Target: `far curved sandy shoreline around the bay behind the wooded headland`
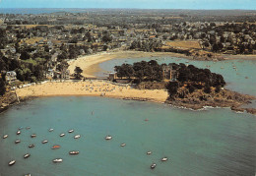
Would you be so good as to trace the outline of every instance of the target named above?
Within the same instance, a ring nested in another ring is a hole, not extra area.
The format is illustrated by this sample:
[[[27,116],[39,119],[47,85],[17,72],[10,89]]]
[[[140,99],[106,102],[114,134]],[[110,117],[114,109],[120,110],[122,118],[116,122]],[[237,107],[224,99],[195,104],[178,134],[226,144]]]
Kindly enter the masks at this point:
[[[78,57],[77,59],[72,59],[68,61],[70,74],[74,74],[74,69],[76,66],[81,67],[83,70],[82,75],[86,78],[96,78],[96,73],[102,71],[99,68],[99,64],[105,61],[112,59],[133,59],[133,58],[142,58],[142,57],[177,57],[188,60],[206,60],[214,61],[212,58],[195,58],[194,56],[186,56],[185,54],[174,53],[174,52],[144,52],[144,51],[104,51],[92,55],[86,55]],[[224,55],[223,60],[256,60],[256,55]],[[218,60],[216,60],[218,62]]]

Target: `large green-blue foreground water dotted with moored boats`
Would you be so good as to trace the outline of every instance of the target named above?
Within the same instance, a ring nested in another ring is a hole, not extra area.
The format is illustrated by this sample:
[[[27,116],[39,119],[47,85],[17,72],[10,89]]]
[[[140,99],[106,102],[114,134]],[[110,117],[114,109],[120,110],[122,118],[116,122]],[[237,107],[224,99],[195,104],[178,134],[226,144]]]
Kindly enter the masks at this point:
[[[16,135],[27,126],[31,129]],[[103,97],[37,98],[0,114],[0,134],[9,135],[0,139],[0,174],[253,176],[255,127],[255,116],[224,108],[195,112]],[[68,134],[70,129],[75,132]],[[66,136],[60,138],[61,133]],[[77,134],[81,138],[75,140]],[[113,139],[105,141],[106,135]],[[17,139],[21,144],[14,144]],[[49,142],[42,145],[43,140]],[[53,150],[53,145],[61,148]],[[80,154],[69,155],[70,150]],[[27,152],[32,156],[24,159]],[[163,156],[168,161],[161,162]],[[52,163],[58,157],[63,162]],[[11,159],[17,163],[8,166]],[[155,170],[150,169],[153,162]]]

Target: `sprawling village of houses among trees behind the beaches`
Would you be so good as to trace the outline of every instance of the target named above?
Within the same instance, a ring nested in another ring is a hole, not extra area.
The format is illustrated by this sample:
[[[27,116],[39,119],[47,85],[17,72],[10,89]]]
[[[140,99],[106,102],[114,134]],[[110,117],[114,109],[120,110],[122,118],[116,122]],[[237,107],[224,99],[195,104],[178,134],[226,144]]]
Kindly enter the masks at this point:
[[[75,79],[68,62],[103,51],[176,52],[207,60],[256,54],[254,16],[229,22],[230,17],[210,21],[193,13],[192,20],[174,13],[104,13],[0,14],[2,77],[28,84]]]

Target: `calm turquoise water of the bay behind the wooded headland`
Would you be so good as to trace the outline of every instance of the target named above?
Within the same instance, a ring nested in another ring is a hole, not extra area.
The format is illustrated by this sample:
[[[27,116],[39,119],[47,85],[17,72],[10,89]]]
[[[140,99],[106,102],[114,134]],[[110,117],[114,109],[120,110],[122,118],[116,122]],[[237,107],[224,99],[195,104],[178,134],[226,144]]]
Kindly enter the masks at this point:
[[[114,66],[122,63],[132,64],[142,60],[150,61],[156,59],[162,63],[184,63],[192,64],[199,68],[209,68],[212,72],[222,74],[226,82],[226,88],[256,96],[256,60],[227,60],[227,61],[192,61],[175,57],[148,57],[137,59],[113,59],[99,64],[103,70],[96,73],[96,76],[106,76],[108,72],[114,71]],[[186,63],[188,62],[188,63]],[[210,66],[210,67],[207,67]],[[236,70],[233,69],[236,67]],[[256,107],[256,106],[255,106]]]

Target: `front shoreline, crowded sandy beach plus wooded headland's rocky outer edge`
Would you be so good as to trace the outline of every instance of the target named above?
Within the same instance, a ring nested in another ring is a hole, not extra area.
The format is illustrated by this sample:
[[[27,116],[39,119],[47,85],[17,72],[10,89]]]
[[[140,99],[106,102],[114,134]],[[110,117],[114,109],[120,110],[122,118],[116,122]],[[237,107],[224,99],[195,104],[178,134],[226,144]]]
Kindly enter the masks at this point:
[[[206,107],[211,108],[229,108],[236,112],[247,112],[256,115],[253,108],[241,108],[235,106],[235,103],[213,104],[205,102],[205,104],[186,104],[186,103],[169,103],[167,100],[168,93],[165,89],[137,89],[130,85],[119,86],[107,81],[85,81],[85,82],[59,82],[46,83],[43,85],[35,85],[29,88],[17,89],[17,94],[21,101],[39,97],[54,96],[99,96],[107,98],[118,98],[123,100],[148,101],[170,105],[176,108],[183,108],[193,111],[204,110]],[[245,95],[247,96],[247,95]],[[249,95],[248,95],[249,96]],[[200,106],[200,108],[199,108]]]

